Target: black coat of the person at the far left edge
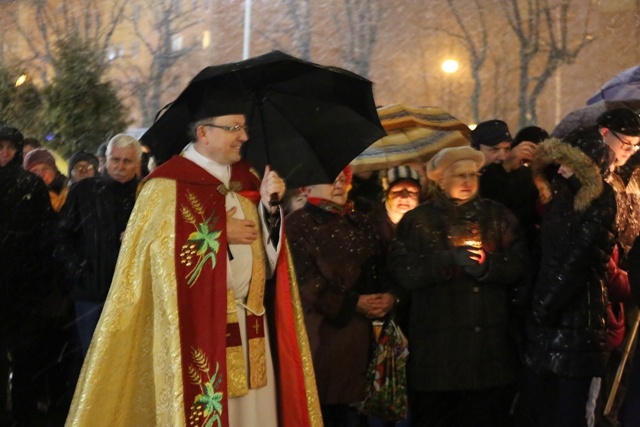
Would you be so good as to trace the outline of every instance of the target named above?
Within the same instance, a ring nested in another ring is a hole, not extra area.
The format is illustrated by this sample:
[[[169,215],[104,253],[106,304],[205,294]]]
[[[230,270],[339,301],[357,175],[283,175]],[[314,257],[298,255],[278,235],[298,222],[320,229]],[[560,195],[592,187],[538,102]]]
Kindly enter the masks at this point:
[[[49,292],[52,227],[42,179],[17,160],[0,167],[0,329],[20,324]]]

